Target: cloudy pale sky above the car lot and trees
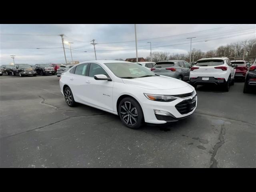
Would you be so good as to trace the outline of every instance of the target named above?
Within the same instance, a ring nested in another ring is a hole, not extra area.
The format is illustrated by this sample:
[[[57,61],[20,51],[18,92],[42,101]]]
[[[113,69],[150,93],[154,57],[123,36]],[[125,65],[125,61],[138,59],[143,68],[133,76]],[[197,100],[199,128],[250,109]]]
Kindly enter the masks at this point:
[[[138,57],[152,52],[170,54],[192,49],[208,51],[218,46],[256,38],[255,24],[137,24]],[[0,63],[65,63],[62,41],[73,42],[73,60],[94,60],[92,39],[97,43],[97,59],[135,58],[133,24],[1,24]],[[206,41],[207,40],[207,41]],[[38,49],[40,48],[40,49]],[[69,45],[65,45],[67,60],[71,60]],[[87,52],[84,52],[87,51]]]

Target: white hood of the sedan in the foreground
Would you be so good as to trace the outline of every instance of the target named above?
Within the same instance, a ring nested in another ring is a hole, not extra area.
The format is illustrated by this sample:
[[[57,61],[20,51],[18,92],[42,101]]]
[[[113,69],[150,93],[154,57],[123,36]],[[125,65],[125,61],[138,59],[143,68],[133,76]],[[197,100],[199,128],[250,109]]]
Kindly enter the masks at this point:
[[[125,84],[151,89],[151,90],[167,90],[178,89],[188,86],[188,83],[166,76],[152,76],[134,79],[122,79]]]

